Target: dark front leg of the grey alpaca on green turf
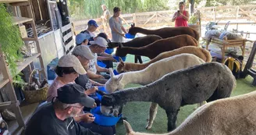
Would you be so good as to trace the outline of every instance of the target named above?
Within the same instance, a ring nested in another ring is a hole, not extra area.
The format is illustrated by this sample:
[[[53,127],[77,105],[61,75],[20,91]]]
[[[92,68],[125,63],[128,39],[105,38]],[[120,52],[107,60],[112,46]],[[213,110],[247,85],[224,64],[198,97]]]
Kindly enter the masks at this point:
[[[165,110],[166,115],[168,117],[168,132],[175,130],[176,129],[176,119],[177,119],[177,114],[179,112],[178,110]]]

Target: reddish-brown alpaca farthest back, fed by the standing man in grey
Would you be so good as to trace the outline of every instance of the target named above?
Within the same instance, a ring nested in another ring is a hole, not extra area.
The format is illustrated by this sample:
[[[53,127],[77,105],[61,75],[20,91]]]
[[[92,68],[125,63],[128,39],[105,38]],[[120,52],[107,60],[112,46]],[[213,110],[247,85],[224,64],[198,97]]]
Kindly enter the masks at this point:
[[[136,35],[137,33],[155,34],[162,38],[175,37],[181,34],[188,34],[194,37],[197,41],[199,40],[199,37],[200,37],[198,32],[190,27],[163,27],[157,30],[147,30],[147,29],[143,29],[143,28],[135,27],[134,25],[131,25],[128,33],[133,35]]]

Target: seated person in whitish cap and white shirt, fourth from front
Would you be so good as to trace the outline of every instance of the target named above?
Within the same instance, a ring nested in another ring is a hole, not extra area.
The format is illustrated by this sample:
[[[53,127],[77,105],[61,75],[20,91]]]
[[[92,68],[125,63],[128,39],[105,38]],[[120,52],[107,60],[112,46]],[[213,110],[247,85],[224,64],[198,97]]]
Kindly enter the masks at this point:
[[[90,60],[89,62],[89,68],[87,75],[90,79],[97,81],[98,83],[105,84],[107,82],[107,79],[110,78],[109,75],[105,74],[105,76],[101,76],[101,72],[109,73],[109,69],[102,68],[98,66],[97,59],[99,60],[108,60],[108,59],[101,59],[98,57],[99,54],[102,54],[105,52],[105,49],[107,48],[108,42],[105,40],[105,38],[97,37],[94,41],[90,41],[89,48],[91,49],[91,52],[94,54],[94,59]]]

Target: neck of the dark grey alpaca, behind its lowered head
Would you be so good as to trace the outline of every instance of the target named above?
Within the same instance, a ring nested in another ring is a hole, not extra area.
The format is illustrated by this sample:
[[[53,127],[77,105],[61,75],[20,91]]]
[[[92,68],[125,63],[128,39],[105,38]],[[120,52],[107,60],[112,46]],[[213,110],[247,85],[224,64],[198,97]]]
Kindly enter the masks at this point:
[[[152,101],[155,102],[156,87],[135,87],[109,94],[116,98],[116,105],[123,105],[128,101]]]

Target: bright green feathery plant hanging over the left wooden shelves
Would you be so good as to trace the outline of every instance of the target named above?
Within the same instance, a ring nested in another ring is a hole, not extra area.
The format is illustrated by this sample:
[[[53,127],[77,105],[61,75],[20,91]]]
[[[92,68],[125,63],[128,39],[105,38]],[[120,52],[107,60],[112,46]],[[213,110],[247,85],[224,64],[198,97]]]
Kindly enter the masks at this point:
[[[23,58],[23,55],[18,53],[18,50],[23,46],[20,30],[16,25],[12,25],[12,17],[6,12],[3,4],[0,4],[0,18],[1,50],[5,54],[6,62],[9,63],[11,74],[16,75],[16,60]],[[13,78],[13,80],[21,81],[20,75]]]

